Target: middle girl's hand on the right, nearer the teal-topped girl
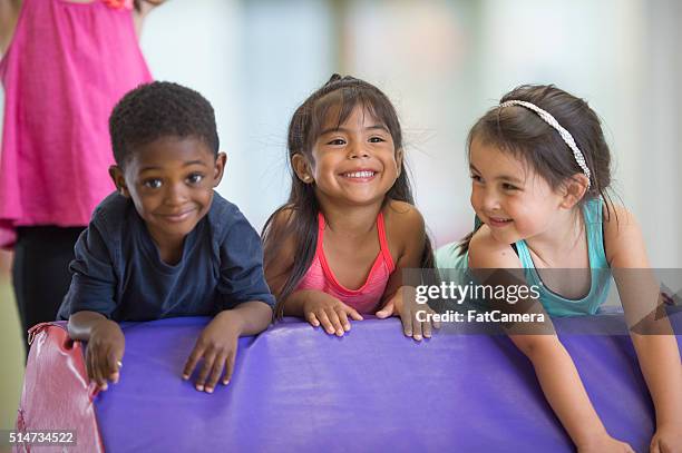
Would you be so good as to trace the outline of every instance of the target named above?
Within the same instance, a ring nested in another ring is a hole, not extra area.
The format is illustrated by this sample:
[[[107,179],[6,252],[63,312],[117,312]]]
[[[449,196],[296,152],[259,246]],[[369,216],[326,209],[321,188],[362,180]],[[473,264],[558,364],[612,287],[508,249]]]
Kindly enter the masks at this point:
[[[440,328],[440,323],[429,321],[427,315],[432,315],[433,311],[426,304],[418,304],[416,295],[413,287],[401,286],[383,308],[377,312],[377,317],[384,319],[400,316],[405,335],[419,342],[425,337],[430,338],[432,328]]]

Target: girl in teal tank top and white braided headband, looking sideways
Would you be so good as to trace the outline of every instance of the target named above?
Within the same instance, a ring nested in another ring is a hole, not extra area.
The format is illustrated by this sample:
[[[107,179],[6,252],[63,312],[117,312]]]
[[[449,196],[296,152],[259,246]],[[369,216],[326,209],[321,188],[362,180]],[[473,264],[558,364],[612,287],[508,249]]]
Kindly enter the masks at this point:
[[[642,303],[647,303],[646,297],[657,295],[653,278],[644,278],[641,292],[620,272],[640,269],[650,275],[649,262],[636,221],[606,195],[611,155],[600,119],[583,99],[553,86],[516,88],[472,127],[468,157],[471,205],[480,220],[458,246],[438,250],[437,264],[446,280],[452,275],[468,280],[471,269],[485,270],[478,275],[487,280],[477,284],[503,283],[510,288],[525,279],[526,285],[539,287],[537,299],[554,316],[596,313],[608,293],[611,277],[605,269],[614,270],[622,301],[639,301],[643,294]],[[577,269],[577,277],[545,285],[540,273],[549,277],[551,269]],[[504,294],[495,296],[503,311],[515,303]],[[636,306],[624,305],[627,317],[642,319]],[[655,305],[644,308],[651,307]],[[542,325],[552,327],[551,317],[545,319]],[[672,332],[666,318],[662,323]],[[606,432],[555,334],[507,332],[533,363],[547,401],[578,451],[632,451]],[[682,445],[682,364],[675,337],[631,332],[655,405],[651,449]]]

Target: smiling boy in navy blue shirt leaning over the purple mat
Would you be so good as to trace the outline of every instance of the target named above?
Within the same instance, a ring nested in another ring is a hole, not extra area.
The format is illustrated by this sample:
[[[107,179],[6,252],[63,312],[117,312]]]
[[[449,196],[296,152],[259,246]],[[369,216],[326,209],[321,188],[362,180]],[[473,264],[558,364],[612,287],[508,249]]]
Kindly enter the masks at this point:
[[[213,108],[194,90],[153,82],[118,102],[109,130],[117,191],[76,244],[59,317],[88,342],[88,375],[106,390],[125,349],[118,322],[215,315],[183,371],[189,378],[203,360],[196,390],[212,393],[225,367],[223,383],[231,378],[238,336],[265,329],[274,305],[259,235],[213,190],[226,159]]]

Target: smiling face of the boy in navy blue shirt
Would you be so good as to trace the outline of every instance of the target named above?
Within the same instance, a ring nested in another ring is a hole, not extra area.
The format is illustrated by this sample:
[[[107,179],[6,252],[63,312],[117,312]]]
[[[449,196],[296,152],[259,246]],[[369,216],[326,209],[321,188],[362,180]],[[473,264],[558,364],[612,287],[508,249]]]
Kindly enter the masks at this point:
[[[224,166],[225,155],[214,157],[202,140],[163,137],[136,147],[125,168],[109,173],[163,249],[182,244],[208,213]]]

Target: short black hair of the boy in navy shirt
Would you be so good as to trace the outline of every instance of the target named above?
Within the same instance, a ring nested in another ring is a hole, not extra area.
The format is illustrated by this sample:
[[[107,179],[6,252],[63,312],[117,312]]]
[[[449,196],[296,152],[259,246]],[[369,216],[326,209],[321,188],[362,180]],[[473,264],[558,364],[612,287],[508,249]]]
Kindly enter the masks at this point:
[[[193,137],[218,152],[215,114],[197,91],[168,81],[140,85],[118,101],[109,117],[114,158],[123,167],[136,146],[162,137]]]

